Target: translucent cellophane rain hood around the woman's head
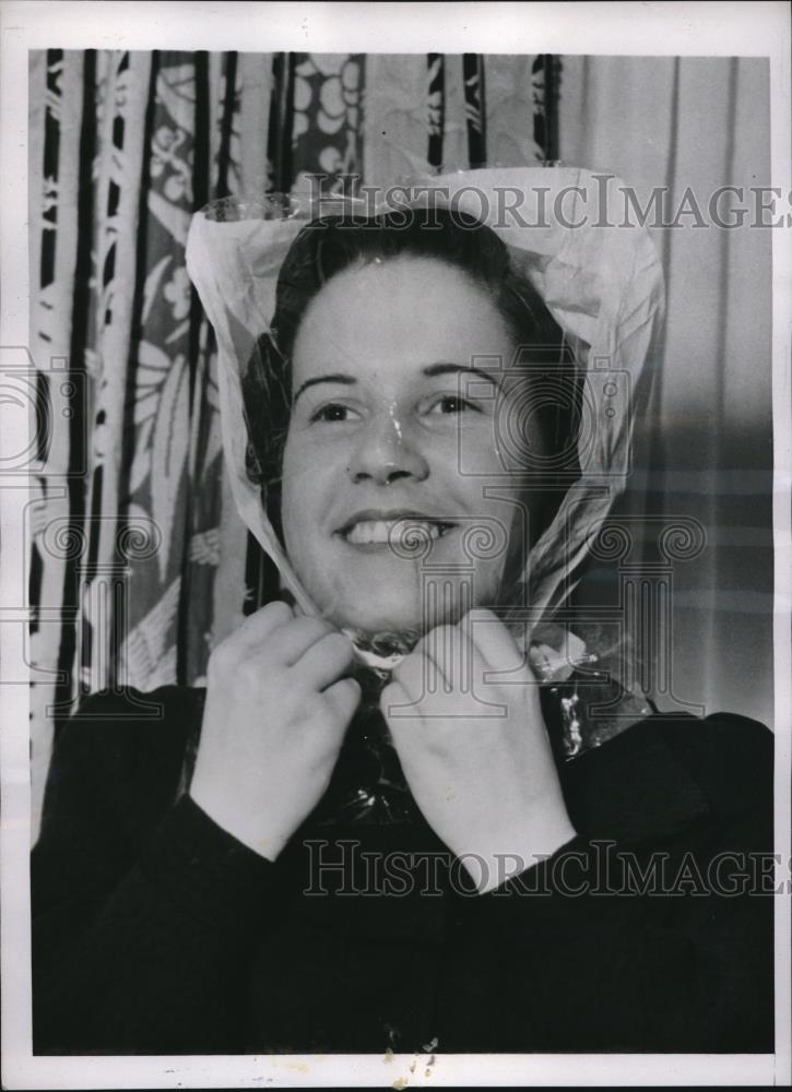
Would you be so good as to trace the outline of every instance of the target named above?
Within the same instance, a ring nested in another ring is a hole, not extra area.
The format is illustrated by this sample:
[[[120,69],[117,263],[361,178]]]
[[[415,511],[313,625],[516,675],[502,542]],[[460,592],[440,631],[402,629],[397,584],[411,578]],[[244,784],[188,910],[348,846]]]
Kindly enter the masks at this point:
[[[615,210],[614,198],[623,192],[615,177],[554,166],[421,177],[383,190],[379,200],[371,201],[369,191],[366,213],[393,207],[393,192],[403,210],[411,203],[411,188],[416,206],[429,200],[447,204],[487,224],[503,239],[515,268],[560,327],[582,383],[581,473],[528,554],[523,574],[533,621],[515,633],[535,648],[536,634],[563,632],[552,626],[553,613],[574,586],[575,570],[625,488],[636,405],[646,397],[663,312],[660,261],[643,228],[604,226],[602,211]],[[353,199],[334,197],[224,199],[193,217],[187,242],[188,272],[217,337],[223,443],[233,494],[244,522],[277,566],[283,586],[307,614],[316,614],[316,606],[268,519],[260,486],[247,473],[243,376],[259,337],[270,331],[277,275],[297,234],[317,215],[356,207]],[[560,645],[544,640],[540,646],[546,661],[549,646],[557,652]],[[582,645],[572,638],[570,651],[569,640],[565,634],[562,657],[574,663]]]

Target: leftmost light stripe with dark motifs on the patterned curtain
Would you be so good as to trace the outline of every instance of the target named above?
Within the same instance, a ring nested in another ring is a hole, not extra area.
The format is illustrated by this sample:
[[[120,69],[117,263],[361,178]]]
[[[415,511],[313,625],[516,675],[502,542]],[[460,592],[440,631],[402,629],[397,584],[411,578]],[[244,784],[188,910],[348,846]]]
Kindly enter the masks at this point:
[[[74,294],[78,215],[78,146],[81,120],[83,58],[80,52],[52,50],[31,66],[31,346],[38,371],[39,393],[49,429],[45,450],[46,475],[32,490],[46,503],[50,526],[69,527],[70,420],[78,411],[80,384],[69,359],[71,301]],[[45,135],[46,133],[46,135]],[[49,144],[49,146],[47,146]],[[34,189],[35,187],[35,189]],[[47,215],[43,211],[47,210]],[[48,261],[39,260],[47,242]],[[45,268],[48,266],[48,268]],[[84,428],[84,422],[82,423]],[[33,515],[31,606],[34,620],[42,606],[61,605],[60,624],[47,610],[42,625],[32,626],[31,653],[37,686],[31,696],[34,827],[40,806],[44,772],[51,750],[55,714],[69,676],[61,664],[61,638],[72,629],[64,616],[64,596],[72,550],[58,548],[66,535],[48,533]],[[42,537],[46,542],[42,542]],[[73,545],[73,537],[69,536]],[[59,681],[60,680],[60,681]]]

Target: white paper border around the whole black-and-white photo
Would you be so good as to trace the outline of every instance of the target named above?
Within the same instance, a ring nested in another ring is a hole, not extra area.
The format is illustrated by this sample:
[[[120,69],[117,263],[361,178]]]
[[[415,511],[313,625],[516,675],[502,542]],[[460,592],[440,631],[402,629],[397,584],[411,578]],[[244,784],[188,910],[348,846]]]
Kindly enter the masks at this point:
[[[771,183],[787,194],[790,169],[790,24],[783,2],[746,3],[210,3],[5,0],[0,8],[0,359],[28,344],[27,55],[32,49],[255,49],[270,52],[610,56],[755,56],[770,61]],[[790,859],[792,769],[792,379],[790,229],[773,232],[776,852]],[[0,458],[23,450],[26,416],[11,416]],[[1,463],[0,463],[1,465]],[[27,577],[22,478],[3,480],[0,520],[2,664],[2,1087],[8,1089],[430,1085],[789,1084],[789,892],[776,915],[775,1055],[438,1055],[430,1076],[413,1055],[42,1057],[32,1055],[29,983],[29,698],[20,574]],[[787,874],[788,875],[788,874]],[[779,881],[787,879],[779,867]],[[395,973],[395,972],[394,972]]]

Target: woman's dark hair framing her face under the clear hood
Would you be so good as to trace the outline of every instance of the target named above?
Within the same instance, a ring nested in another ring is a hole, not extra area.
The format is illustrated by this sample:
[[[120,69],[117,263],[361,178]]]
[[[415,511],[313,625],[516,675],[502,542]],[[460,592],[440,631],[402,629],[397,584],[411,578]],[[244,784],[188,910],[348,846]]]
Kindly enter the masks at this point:
[[[262,500],[279,536],[280,479],[292,404],[292,353],[308,305],[338,273],[375,260],[430,258],[462,271],[493,299],[506,320],[519,353],[518,368],[552,375],[555,385],[577,390],[574,359],[564,334],[530,281],[519,273],[503,240],[485,224],[458,210],[400,210],[377,216],[322,216],[294,240],[281,266],[272,329],[262,334],[243,377],[243,397],[250,440],[248,475],[261,484]],[[412,213],[412,215],[411,215]],[[511,366],[511,363],[510,363]],[[262,413],[262,410],[265,412]],[[558,468],[563,453],[566,478],[577,476],[575,437],[578,396],[545,396],[532,407],[544,440],[546,463]],[[523,418],[524,419],[524,418]]]

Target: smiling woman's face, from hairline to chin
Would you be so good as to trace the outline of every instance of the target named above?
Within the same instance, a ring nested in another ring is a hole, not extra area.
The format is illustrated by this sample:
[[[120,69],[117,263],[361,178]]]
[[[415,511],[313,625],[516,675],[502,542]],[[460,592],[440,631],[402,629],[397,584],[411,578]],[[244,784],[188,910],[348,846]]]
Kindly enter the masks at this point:
[[[497,602],[506,547],[528,531],[496,429],[524,392],[506,375],[515,347],[487,293],[433,259],[346,270],[311,301],[293,353],[283,532],[336,625],[414,633]]]

